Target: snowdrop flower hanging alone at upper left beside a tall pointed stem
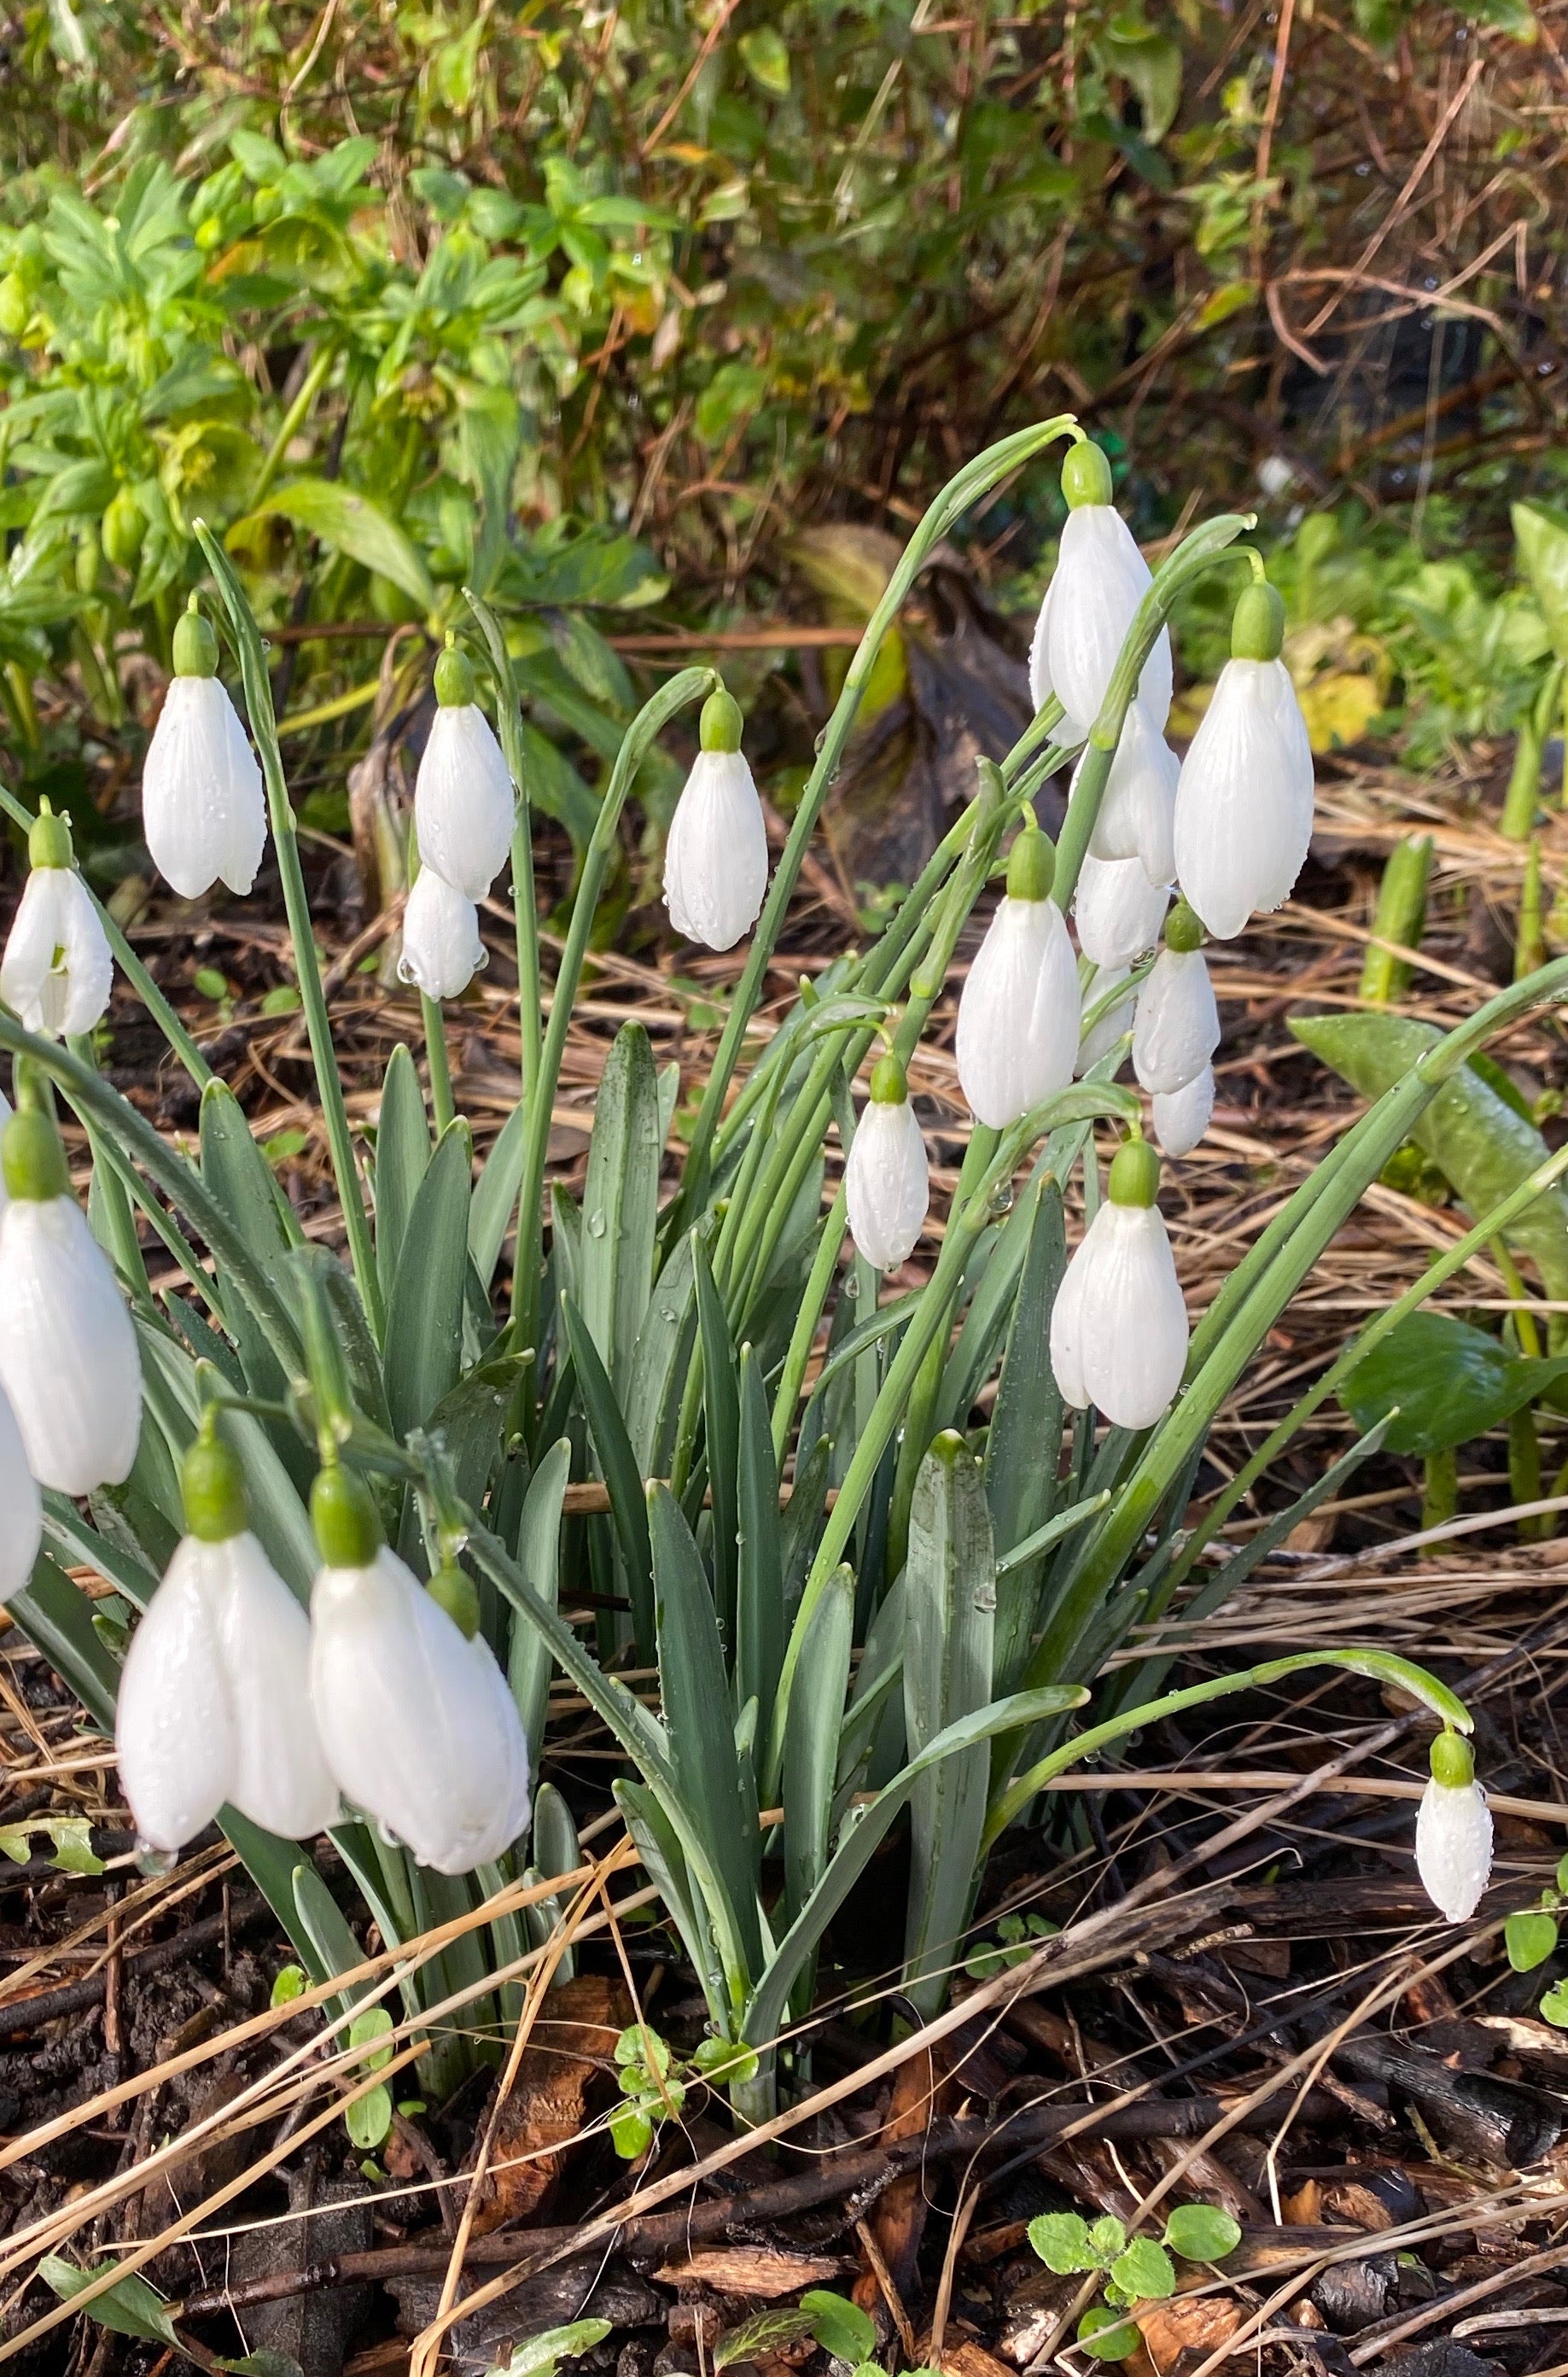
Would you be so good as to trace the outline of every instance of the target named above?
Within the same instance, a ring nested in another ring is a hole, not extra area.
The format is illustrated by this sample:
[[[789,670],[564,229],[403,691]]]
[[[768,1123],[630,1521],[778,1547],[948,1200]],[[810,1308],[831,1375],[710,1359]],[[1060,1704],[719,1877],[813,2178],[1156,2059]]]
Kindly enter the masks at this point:
[[[266,849],[261,770],[219,685],[219,639],[195,594],[173,630],[173,677],[143,765],[143,834],[181,899],[219,879],[249,891]]]

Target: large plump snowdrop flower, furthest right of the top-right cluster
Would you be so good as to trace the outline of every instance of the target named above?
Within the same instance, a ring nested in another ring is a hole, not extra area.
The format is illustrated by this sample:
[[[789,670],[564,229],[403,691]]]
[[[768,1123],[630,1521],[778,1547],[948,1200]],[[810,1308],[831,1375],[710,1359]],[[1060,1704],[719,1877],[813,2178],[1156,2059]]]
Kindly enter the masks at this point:
[[[1290,899],[1311,841],[1311,744],[1283,639],[1285,606],[1259,580],[1176,784],[1176,875],[1221,941]]]

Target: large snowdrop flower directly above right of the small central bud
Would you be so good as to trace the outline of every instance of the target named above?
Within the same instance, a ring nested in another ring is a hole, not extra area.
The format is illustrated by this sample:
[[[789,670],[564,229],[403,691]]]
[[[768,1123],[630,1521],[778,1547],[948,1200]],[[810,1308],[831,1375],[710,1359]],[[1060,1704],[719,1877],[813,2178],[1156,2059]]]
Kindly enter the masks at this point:
[[[1079,965],[1052,875],[1055,851],[1031,820],[957,1001],[957,1082],[991,1129],[1067,1089],[1079,1055]]]

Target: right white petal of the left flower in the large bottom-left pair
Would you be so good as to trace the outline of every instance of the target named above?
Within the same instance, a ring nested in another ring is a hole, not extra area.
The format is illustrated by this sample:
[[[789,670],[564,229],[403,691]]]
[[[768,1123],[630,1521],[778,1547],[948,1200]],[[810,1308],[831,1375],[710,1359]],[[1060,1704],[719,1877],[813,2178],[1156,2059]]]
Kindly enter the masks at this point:
[[[252,1533],[188,1543],[235,1714],[228,1797],[283,1840],[309,1840],[337,1821],[311,1714],[311,1621]]]

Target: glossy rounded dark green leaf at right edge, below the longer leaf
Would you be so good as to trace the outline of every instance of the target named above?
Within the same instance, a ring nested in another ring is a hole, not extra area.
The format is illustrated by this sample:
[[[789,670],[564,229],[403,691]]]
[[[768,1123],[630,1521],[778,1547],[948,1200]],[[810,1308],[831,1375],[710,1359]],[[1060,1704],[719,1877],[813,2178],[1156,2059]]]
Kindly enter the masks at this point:
[[[1411,1312],[1357,1362],[1340,1400],[1359,1429],[1387,1419],[1390,1452],[1428,1455],[1485,1436],[1563,1372],[1568,1360],[1523,1360],[1452,1312]]]

